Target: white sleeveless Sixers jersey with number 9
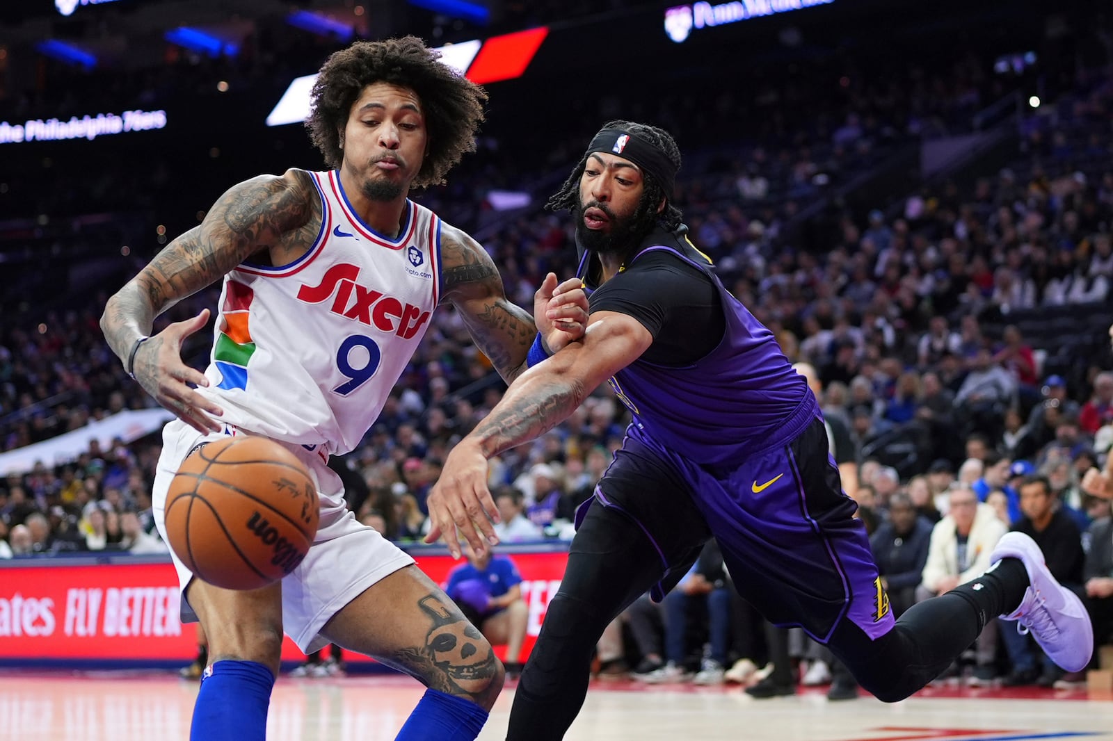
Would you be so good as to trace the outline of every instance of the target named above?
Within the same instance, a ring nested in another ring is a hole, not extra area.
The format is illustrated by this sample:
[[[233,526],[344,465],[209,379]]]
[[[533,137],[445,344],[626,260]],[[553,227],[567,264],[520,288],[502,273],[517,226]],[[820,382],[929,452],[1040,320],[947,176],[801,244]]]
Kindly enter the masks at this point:
[[[355,214],[336,171],[311,172],[321,233],[280,267],[224,278],[198,392],[218,419],[323,454],[358,445],[429,328],[440,299],[441,220],[406,201],[397,239]]]

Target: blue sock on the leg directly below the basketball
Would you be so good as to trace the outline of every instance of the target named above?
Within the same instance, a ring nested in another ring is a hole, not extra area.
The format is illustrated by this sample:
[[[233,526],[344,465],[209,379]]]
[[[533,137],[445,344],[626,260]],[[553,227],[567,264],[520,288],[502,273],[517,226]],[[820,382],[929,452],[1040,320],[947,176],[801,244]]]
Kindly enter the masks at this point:
[[[254,661],[218,661],[201,675],[190,741],[265,741],[275,675]]]

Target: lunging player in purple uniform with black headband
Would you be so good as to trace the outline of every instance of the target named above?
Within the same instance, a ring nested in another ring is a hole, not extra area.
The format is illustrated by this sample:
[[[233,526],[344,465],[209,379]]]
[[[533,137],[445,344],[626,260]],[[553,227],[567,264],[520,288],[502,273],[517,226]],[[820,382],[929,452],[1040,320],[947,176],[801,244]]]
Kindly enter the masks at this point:
[[[457,514],[487,496],[489,457],[541,435],[604,381],[633,413],[578,513],[508,738],[562,738],[603,628],[646,590],[659,599],[671,589],[709,536],[743,597],[828,644],[881,700],[924,686],[997,615],[1020,621],[1065,669],[1085,666],[1092,633],[1082,603],[1017,533],[983,576],[894,621],[816,398],[688,240],[670,202],[679,168],[677,145],[659,128],[612,121],[595,135],[549,202],[577,219],[587,333],[510,386],[450,453],[429,497],[432,540],[470,525]]]

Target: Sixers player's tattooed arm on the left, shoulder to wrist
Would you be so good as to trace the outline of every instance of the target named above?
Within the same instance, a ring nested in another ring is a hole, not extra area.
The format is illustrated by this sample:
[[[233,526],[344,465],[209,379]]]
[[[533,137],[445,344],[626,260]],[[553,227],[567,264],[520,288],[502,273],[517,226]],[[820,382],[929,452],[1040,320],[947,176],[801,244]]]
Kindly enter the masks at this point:
[[[312,245],[319,218],[311,176],[301,170],[232,187],[200,225],[167,245],[108,299],[100,317],[108,344],[126,359],[136,338],[150,334],[156,316],[253,254],[277,248],[299,256],[298,249]]]

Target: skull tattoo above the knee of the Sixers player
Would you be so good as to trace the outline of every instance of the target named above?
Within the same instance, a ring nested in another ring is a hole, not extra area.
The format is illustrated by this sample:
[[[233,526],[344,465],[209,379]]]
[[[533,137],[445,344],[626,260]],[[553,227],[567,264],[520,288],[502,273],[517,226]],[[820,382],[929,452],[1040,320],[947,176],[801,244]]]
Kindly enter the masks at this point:
[[[432,623],[424,645],[397,649],[384,658],[385,662],[416,676],[433,690],[465,696],[480,704],[489,694],[498,694],[501,682],[492,680],[499,673],[499,660],[479,629],[441,594],[423,596],[417,606]]]

